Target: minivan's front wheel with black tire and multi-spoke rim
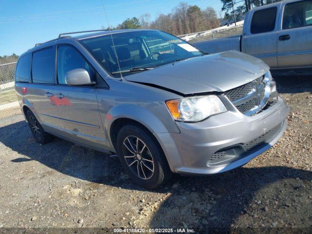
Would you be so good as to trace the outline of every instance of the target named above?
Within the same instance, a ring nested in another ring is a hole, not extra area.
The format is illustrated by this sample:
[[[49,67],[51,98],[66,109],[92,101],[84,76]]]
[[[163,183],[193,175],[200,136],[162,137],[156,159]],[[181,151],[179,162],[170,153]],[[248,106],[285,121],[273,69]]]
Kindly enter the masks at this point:
[[[134,148],[131,148],[130,143]],[[144,149],[141,151],[142,148]],[[131,153],[134,151],[135,154]],[[124,170],[141,187],[155,189],[165,184],[172,176],[165,154],[156,138],[140,126],[131,124],[120,129],[117,135],[117,155]],[[134,162],[135,160],[137,162]]]

